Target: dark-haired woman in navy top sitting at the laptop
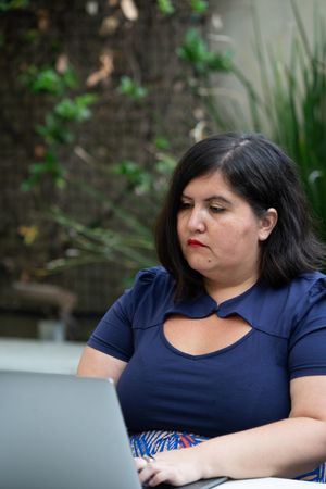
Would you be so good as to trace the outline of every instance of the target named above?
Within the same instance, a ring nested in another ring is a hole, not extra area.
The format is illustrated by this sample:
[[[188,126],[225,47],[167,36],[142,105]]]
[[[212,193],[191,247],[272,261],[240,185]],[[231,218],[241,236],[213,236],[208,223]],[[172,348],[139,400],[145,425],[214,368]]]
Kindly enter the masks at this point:
[[[154,455],[140,480],[326,481],[325,249],[292,162],[261,135],[198,142],[156,250],[78,368],[116,381],[134,454]]]

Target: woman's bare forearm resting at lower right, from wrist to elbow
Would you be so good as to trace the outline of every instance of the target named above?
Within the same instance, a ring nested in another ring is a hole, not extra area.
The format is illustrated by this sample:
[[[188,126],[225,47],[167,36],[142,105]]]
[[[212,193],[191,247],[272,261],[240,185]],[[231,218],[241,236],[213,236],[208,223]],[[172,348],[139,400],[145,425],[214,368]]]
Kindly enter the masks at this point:
[[[326,461],[326,422],[284,419],[193,448],[202,477],[296,477]]]

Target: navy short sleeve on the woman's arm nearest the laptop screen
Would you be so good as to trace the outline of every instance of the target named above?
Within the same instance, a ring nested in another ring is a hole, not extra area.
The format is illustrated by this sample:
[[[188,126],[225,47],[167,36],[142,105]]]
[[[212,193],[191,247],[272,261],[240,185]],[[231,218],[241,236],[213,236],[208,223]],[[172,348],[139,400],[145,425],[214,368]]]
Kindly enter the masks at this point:
[[[135,285],[126,290],[104,314],[87,344],[96,350],[128,362],[134,353],[133,322],[135,304],[139,304],[150,291],[155,268],[140,271]]]

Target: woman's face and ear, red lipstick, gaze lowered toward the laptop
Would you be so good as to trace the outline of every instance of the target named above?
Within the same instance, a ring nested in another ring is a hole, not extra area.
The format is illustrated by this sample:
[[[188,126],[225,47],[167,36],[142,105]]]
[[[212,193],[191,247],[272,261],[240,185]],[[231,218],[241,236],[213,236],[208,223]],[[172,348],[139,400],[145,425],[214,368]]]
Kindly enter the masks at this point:
[[[189,266],[210,280],[256,280],[260,241],[276,218],[258,217],[220,172],[192,179],[184,189],[177,216],[179,243]],[[273,213],[273,212],[272,212]]]

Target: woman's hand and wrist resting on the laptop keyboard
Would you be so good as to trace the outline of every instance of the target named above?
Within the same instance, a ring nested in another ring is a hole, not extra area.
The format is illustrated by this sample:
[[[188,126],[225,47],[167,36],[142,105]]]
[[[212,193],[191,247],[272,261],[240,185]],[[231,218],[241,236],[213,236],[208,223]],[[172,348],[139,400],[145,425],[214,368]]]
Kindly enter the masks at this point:
[[[135,463],[140,482],[147,482],[150,487],[162,482],[183,486],[202,478],[196,447],[160,452],[151,461],[135,459]]]

